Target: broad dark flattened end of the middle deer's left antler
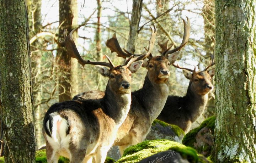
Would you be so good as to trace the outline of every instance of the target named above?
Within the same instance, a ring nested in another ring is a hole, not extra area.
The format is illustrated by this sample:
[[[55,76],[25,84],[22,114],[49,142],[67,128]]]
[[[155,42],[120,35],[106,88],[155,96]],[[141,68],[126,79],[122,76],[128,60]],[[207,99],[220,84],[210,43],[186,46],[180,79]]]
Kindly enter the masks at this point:
[[[126,53],[121,49],[118,40],[116,38],[116,33],[113,34],[111,39],[108,39],[106,41],[107,47],[110,49],[111,53],[116,52],[118,57],[123,57],[126,59],[126,57],[130,57],[132,54]]]

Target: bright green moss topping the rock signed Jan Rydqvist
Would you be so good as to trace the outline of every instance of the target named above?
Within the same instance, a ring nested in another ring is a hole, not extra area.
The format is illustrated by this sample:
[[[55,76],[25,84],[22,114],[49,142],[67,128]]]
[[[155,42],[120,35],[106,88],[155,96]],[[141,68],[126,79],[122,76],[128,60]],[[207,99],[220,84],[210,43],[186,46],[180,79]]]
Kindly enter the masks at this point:
[[[161,139],[143,141],[127,148],[124,151],[123,157],[117,163],[137,163],[153,154],[167,150],[177,151],[183,158],[186,158],[190,162],[210,162],[203,156],[198,155],[193,148],[186,147],[178,142]]]

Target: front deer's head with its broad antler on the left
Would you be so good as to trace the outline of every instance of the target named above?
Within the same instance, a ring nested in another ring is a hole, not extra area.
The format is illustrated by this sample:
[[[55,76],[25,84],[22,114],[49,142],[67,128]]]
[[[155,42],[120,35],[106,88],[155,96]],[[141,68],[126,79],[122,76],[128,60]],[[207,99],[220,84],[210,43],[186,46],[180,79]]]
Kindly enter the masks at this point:
[[[68,50],[68,54],[76,58],[78,62],[84,67],[85,64],[93,64],[97,65],[98,72],[104,76],[108,77],[108,86],[112,90],[112,92],[116,92],[118,94],[128,93],[130,92],[130,83],[131,83],[131,74],[138,71],[138,69],[142,66],[143,60],[141,58],[133,58],[130,56],[128,60],[126,60],[124,65],[114,66],[113,62],[110,58],[106,56],[107,62],[94,62],[89,60],[84,60],[75,45],[72,34],[75,29],[73,29],[70,34],[67,36],[66,29],[64,30],[64,39],[65,41],[60,41],[62,46],[65,46]],[[145,55],[143,55],[145,56]],[[108,67],[108,68],[107,68]]]

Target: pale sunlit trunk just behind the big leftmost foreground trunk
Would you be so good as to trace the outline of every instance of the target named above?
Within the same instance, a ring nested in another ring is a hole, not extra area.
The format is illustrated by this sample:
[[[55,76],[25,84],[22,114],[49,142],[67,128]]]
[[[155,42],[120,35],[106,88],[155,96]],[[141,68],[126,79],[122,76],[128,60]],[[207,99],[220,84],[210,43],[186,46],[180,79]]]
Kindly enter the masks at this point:
[[[29,27],[29,39],[35,36],[37,33],[41,31],[42,26],[42,14],[41,14],[41,0],[27,0],[28,5],[28,27]],[[41,75],[41,61],[42,61],[42,50],[41,44],[38,43],[37,38],[36,41],[32,43],[30,46],[31,52],[31,74],[32,74],[32,88],[33,88],[33,106],[36,103],[41,103],[42,100],[42,90],[41,85],[37,84],[37,81],[42,81]],[[41,39],[42,40],[42,39]],[[39,79],[38,79],[39,78]],[[35,131],[36,131],[36,140],[37,140],[37,148],[41,147],[45,141],[42,134],[42,123],[43,123],[43,114],[44,107],[38,105],[34,107],[34,122],[35,122]]]

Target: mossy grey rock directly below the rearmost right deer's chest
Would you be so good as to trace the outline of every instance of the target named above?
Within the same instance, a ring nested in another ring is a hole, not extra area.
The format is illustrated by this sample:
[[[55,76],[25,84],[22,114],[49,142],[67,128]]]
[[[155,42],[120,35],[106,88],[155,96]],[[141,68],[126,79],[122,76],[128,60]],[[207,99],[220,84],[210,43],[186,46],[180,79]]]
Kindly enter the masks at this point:
[[[181,142],[184,135],[184,131],[178,126],[155,119],[145,140],[168,139]]]

